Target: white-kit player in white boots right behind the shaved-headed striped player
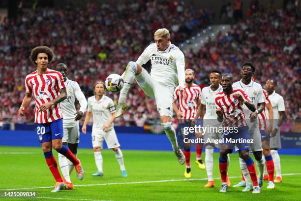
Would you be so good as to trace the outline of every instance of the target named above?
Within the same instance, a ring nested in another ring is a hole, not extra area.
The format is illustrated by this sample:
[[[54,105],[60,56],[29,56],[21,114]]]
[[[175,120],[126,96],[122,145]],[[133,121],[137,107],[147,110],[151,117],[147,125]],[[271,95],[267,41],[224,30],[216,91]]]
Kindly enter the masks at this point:
[[[258,114],[261,113],[264,109],[264,95],[262,92],[262,87],[260,84],[252,81],[252,76],[255,72],[254,64],[247,62],[242,64],[241,69],[241,80],[237,81],[233,84],[233,88],[235,89],[242,89],[248,95],[251,102],[257,108],[255,112],[251,112],[247,107],[243,107],[243,112],[245,113],[245,119],[249,127],[249,133],[251,139],[253,139],[253,143],[250,144],[251,151],[256,159],[256,164],[258,167],[258,183],[260,189],[263,185],[263,170],[264,170],[264,163],[265,159],[262,154],[262,142],[261,142],[261,134],[259,131],[259,123],[258,123]],[[237,185],[233,187],[242,187],[245,186],[243,192],[251,191],[252,184],[250,182],[249,172],[247,170],[247,166],[243,159],[240,158],[240,166],[241,172],[243,175],[243,179],[245,181],[241,181]]]

